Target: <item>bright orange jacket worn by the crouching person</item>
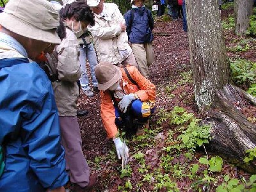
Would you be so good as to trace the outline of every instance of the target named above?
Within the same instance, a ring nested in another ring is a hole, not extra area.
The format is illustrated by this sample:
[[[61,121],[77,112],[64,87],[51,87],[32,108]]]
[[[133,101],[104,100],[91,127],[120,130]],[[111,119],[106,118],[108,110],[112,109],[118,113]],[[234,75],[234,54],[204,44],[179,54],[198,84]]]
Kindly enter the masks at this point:
[[[126,76],[124,68],[122,71],[122,88],[126,94],[136,93],[141,101],[156,100],[156,86],[148,79],[140,74],[138,69],[132,65],[126,67],[130,76],[138,86],[132,84],[129,78]],[[115,125],[115,108],[112,102],[112,96],[109,90],[100,91],[100,114],[102,117],[103,125],[107,131],[108,138],[117,136],[118,130]]]

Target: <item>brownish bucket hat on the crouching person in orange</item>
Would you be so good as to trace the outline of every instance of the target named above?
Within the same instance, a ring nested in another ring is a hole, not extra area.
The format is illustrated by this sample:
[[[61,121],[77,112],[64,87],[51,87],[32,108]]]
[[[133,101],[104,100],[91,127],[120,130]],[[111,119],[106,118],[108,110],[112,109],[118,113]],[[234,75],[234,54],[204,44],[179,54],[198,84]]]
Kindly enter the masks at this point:
[[[104,61],[96,65],[95,76],[98,81],[99,90],[105,91],[122,79],[122,72],[119,67]]]

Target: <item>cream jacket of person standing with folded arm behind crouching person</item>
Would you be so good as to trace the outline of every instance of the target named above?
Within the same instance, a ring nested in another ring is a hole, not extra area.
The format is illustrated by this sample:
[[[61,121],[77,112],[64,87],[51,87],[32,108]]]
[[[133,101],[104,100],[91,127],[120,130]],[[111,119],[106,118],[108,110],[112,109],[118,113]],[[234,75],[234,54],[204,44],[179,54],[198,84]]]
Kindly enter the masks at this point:
[[[132,53],[127,33],[122,32],[120,27],[120,23],[125,24],[125,20],[114,3],[104,3],[104,10],[106,16],[94,14],[95,26],[88,29],[92,33],[98,60],[121,63]],[[127,51],[124,58],[120,55],[120,50]]]

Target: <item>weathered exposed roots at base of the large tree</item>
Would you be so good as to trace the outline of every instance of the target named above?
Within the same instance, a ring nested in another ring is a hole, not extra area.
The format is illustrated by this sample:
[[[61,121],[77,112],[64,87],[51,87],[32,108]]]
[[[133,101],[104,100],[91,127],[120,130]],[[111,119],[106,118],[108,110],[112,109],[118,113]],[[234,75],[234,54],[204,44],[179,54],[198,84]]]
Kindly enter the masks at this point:
[[[220,156],[227,157],[250,173],[256,173],[256,162],[245,164],[246,150],[256,147],[256,125],[250,123],[234,103],[244,106],[241,90],[232,85],[216,92],[216,99],[204,123],[211,124],[212,140],[208,149]]]

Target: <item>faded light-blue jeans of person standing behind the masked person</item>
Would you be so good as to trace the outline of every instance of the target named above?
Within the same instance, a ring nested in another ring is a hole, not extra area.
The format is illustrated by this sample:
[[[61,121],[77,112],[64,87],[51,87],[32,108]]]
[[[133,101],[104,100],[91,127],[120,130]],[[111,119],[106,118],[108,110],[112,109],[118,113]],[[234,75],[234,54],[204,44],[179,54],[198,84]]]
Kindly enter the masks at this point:
[[[88,72],[86,70],[86,59],[88,60],[90,64],[90,70],[92,73],[92,84],[93,86],[98,86],[97,79],[95,77],[95,66],[98,64],[96,53],[93,47],[93,44],[81,44],[80,45],[80,56],[79,61],[81,65],[81,71],[82,75],[80,77],[80,83],[82,90],[90,90],[89,86],[89,78],[88,78]]]

